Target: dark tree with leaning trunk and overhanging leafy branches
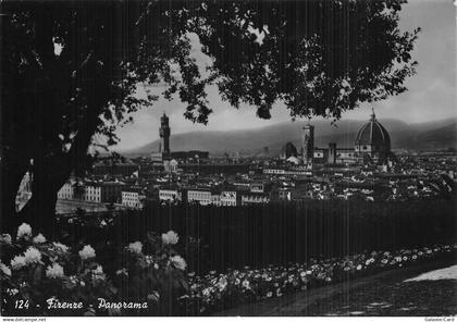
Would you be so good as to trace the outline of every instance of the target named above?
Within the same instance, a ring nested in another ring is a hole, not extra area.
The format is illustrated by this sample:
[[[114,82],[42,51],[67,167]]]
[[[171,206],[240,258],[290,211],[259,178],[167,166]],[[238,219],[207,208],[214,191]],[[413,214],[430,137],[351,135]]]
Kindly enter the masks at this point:
[[[32,214],[29,222],[49,227],[38,213],[53,212],[55,193],[85,163],[95,134],[115,144],[115,128],[158,99],[155,86],[166,85],[161,95],[177,95],[184,116],[198,123],[211,113],[210,84],[264,119],[280,101],[292,117],[338,119],[404,91],[419,29],[399,30],[403,2],[1,2],[3,216],[14,218],[33,160],[33,197],[15,218]],[[208,71],[192,54],[192,35],[211,59]]]

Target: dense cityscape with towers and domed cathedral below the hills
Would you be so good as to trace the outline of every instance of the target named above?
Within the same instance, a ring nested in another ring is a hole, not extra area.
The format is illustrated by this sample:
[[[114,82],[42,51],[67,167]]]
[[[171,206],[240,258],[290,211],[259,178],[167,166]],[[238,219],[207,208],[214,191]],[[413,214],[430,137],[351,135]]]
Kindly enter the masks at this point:
[[[309,199],[408,200],[454,194],[457,156],[453,151],[406,154],[391,151],[387,131],[371,119],[354,148],[313,145],[312,125],[304,127],[300,150],[286,143],[281,154],[211,158],[207,151],[171,151],[169,117],[160,127],[160,150],[149,158],[103,158],[60,189],[58,211],[141,209],[147,202],[245,206]],[[17,205],[29,198],[25,177]]]

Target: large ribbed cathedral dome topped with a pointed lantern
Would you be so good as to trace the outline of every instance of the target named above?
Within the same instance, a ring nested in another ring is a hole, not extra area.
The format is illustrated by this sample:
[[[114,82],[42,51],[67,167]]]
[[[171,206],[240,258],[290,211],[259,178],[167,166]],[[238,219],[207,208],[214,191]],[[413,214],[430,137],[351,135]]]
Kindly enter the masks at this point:
[[[355,140],[356,152],[388,153],[391,151],[391,136],[388,132],[376,121],[374,111],[370,121],[365,124]]]

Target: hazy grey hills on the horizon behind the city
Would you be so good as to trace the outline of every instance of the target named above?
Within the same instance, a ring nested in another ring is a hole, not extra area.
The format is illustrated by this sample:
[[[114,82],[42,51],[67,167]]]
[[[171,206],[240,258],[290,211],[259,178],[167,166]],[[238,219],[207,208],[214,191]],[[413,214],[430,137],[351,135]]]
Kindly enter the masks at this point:
[[[336,143],[338,147],[353,147],[358,129],[367,121],[342,120],[335,125],[330,121],[313,121],[314,146],[328,147]],[[443,120],[425,123],[407,124],[398,120],[379,121],[391,134],[392,148],[408,149],[443,149],[457,146],[457,120]],[[242,154],[258,154],[263,147],[269,148],[269,154],[280,153],[283,145],[292,141],[299,149],[301,128],[307,122],[286,122],[255,129],[242,131],[201,131],[175,134],[171,136],[173,151],[205,150],[211,154],[240,152]],[[121,151],[125,156],[147,156],[159,149],[159,140],[143,147]]]

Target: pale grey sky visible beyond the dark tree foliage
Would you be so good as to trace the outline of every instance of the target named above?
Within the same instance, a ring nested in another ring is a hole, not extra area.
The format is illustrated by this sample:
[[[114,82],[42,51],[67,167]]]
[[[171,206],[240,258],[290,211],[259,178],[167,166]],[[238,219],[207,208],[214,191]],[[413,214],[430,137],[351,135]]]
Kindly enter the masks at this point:
[[[457,1],[456,1],[457,2]],[[452,0],[409,0],[400,12],[399,27],[412,30],[421,27],[412,58],[419,62],[417,74],[406,81],[408,91],[343,114],[343,119],[368,120],[373,107],[378,119],[397,119],[407,123],[457,119],[456,88],[456,9]],[[208,58],[194,50],[202,65]],[[178,100],[159,100],[153,107],[133,114],[134,123],[118,131],[121,139],[115,150],[136,148],[159,138],[160,116],[170,116],[173,133],[193,131],[228,131],[255,128],[282,122],[292,122],[287,109],[277,103],[270,120],[256,116],[256,108],[242,106],[239,110],[221,100],[215,87],[208,88],[208,100],[213,113],[208,124],[185,120],[185,106]],[[329,121],[330,122],[330,121]]]

